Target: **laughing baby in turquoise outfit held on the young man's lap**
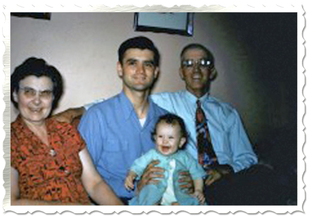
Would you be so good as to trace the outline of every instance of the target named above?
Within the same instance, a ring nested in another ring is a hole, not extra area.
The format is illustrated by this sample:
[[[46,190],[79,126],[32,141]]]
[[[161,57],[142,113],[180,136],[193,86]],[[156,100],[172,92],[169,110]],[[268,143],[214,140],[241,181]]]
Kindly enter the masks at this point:
[[[129,205],[203,205],[203,179],[205,171],[188,152],[181,150],[187,141],[183,119],[174,114],[161,116],[152,133],[156,149],[151,149],[136,159],[125,179],[128,190],[134,188],[134,180],[140,178],[152,160],[165,169],[164,179],[157,184],[148,184]],[[179,188],[178,173],[188,170],[194,182],[194,193],[189,195]]]

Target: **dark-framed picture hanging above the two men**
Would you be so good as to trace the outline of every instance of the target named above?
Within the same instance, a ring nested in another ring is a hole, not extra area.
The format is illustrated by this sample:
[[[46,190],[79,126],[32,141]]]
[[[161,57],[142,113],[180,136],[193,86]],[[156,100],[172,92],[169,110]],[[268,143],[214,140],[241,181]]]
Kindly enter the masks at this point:
[[[134,30],[193,36],[194,12],[136,12]]]

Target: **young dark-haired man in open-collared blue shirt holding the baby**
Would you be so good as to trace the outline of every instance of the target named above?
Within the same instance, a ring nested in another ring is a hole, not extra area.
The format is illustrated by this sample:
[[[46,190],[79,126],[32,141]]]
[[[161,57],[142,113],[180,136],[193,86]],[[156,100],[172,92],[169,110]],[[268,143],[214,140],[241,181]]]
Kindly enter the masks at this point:
[[[78,129],[96,169],[127,203],[136,191],[124,188],[127,171],[135,159],[154,147],[151,132],[158,117],[167,111],[149,99],[159,72],[159,52],[152,41],[128,39],[120,45],[118,55],[121,93],[88,109]]]

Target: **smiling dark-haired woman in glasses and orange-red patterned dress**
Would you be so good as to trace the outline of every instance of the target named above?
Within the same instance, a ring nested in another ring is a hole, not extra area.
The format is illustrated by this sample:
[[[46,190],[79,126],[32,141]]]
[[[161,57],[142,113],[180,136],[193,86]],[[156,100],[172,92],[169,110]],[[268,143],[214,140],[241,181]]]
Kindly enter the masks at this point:
[[[97,173],[75,128],[48,118],[62,77],[43,59],[28,58],[11,75],[11,205],[121,205]]]

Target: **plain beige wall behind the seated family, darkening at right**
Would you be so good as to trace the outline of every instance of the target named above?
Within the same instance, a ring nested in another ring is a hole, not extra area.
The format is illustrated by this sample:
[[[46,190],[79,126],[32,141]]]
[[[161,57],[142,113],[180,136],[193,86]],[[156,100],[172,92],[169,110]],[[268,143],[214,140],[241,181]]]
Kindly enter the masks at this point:
[[[264,60],[254,57],[256,48],[247,40],[258,34],[248,36],[252,28],[245,31],[243,25],[232,23],[230,16],[196,13],[193,37],[135,32],[134,13],[52,13],[49,21],[11,16],[11,73],[31,56],[44,58],[55,66],[65,82],[57,113],[95,99],[109,98],[121,90],[122,83],[116,73],[117,49],[125,39],[144,35],[158,47],[161,74],[154,92],[184,88],[178,74],[179,53],[188,43],[201,43],[214,54],[219,73],[211,94],[238,109],[252,141],[257,141],[266,128],[279,128],[291,122],[292,109],[283,107],[287,96],[281,96],[287,84],[282,86],[278,82],[278,88],[274,89],[269,78],[258,76],[275,70],[260,68],[260,60]],[[11,121],[15,118],[11,104]]]

